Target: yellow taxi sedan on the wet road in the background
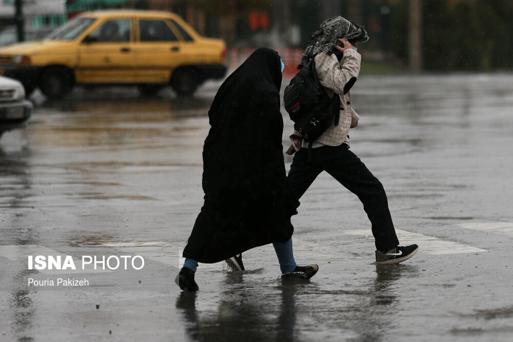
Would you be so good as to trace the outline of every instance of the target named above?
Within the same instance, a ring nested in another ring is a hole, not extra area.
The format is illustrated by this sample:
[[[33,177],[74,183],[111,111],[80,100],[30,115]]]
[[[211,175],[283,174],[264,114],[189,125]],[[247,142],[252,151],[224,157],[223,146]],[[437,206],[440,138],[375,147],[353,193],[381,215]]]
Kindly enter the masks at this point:
[[[226,44],[195,32],[171,12],[109,10],[82,13],[44,41],[0,49],[0,74],[27,94],[49,98],[74,85],[136,85],[153,93],[170,85],[191,95],[206,79],[224,77]]]

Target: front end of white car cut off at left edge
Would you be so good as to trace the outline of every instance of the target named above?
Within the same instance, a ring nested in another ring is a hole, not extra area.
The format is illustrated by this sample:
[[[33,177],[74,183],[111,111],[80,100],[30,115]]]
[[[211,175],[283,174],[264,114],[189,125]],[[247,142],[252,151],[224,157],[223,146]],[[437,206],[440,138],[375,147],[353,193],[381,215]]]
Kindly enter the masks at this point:
[[[23,85],[0,76],[0,136],[11,129],[24,127],[32,115],[32,103],[25,99]]]

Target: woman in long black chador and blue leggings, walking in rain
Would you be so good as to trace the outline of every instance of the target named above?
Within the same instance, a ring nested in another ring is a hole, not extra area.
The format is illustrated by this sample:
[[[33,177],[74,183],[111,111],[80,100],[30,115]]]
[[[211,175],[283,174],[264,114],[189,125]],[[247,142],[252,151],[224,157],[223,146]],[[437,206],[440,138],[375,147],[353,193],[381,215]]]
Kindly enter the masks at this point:
[[[281,70],[280,70],[281,69]],[[184,249],[176,284],[198,290],[200,263],[227,260],[243,270],[241,254],[272,243],[283,277],[310,278],[317,265],[297,266],[292,255],[295,199],[285,174],[280,113],[283,63],[260,48],[219,88],[208,112],[203,147],[205,203]]]

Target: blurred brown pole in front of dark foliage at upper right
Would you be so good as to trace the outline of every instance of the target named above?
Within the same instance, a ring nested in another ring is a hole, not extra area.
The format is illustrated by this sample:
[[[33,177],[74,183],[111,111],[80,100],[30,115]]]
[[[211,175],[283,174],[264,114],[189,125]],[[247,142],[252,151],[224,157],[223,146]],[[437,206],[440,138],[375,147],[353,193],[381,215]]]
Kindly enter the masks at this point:
[[[420,0],[409,1],[408,56],[409,66],[414,72],[422,71],[422,4]]]

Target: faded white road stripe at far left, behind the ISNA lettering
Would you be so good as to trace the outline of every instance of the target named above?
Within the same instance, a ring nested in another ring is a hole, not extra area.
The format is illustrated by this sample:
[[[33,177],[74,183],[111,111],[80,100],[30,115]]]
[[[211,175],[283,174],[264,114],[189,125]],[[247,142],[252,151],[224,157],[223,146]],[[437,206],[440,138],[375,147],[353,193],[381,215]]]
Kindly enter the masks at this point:
[[[46,258],[48,258],[49,255],[54,257],[61,256],[62,263],[64,263],[64,259],[66,258],[66,256],[68,256],[68,254],[64,254],[54,249],[38,245],[0,246],[0,256],[4,256],[13,261],[19,261],[26,265],[27,269],[29,255],[32,255],[33,257],[35,257],[36,255],[44,255]],[[69,268],[66,268],[65,270],[36,270],[35,267],[34,270],[45,274],[84,274],[111,272],[111,270],[109,269],[100,269],[99,265],[98,269],[95,270],[92,264],[86,264],[84,265],[84,269],[82,269],[82,259],[74,257],[72,257],[72,259],[76,270],[71,270]],[[105,266],[105,268],[107,268],[107,266]]]

